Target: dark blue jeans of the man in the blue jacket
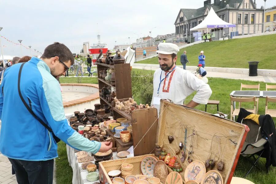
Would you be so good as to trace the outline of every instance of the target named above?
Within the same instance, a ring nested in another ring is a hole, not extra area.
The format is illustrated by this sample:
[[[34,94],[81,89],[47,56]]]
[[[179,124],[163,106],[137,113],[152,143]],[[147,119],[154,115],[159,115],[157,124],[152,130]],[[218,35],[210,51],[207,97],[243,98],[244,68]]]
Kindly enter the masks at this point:
[[[54,159],[46,161],[26,161],[10,159],[18,184],[52,184]]]

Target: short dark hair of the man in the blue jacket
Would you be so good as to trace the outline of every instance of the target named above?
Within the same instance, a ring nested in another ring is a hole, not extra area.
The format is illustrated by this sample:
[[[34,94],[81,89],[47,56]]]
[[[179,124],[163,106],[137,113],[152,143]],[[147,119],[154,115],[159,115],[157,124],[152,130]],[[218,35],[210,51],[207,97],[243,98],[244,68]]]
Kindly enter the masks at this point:
[[[54,44],[48,45],[41,58],[50,59],[51,57],[58,56],[63,62],[71,61],[71,65],[74,64],[74,56],[72,52],[64,44],[55,42]]]

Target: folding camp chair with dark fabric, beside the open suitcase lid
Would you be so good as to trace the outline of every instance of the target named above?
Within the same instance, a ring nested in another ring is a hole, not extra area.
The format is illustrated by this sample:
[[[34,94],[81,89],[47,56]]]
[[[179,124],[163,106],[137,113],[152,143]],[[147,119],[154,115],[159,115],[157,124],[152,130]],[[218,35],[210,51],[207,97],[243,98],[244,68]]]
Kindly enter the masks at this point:
[[[255,121],[251,119],[243,119],[242,124],[247,125],[250,131],[247,133],[245,142],[243,144],[242,151],[240,155],[242,155],[245,159],[247,159],[252,167],[245,174],[244,178],[250,173],[253,167],[256,167],[260,171],[263,171],[258,164],[258,160],[261,158],[264,152],[264,144],[266,144],[267,140],[263,139],[261,136],[261,127]],[[257,159],[255,155],[258,155]],[[252,161],[253,158],[254,161]]]

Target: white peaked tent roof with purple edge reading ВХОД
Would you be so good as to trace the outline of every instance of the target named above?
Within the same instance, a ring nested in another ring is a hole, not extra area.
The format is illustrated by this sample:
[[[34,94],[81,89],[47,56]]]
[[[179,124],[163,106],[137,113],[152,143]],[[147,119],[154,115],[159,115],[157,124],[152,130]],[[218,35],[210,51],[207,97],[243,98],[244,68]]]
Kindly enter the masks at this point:
[[[217,14],[215,13],[212,7],[207,17],[205,17],[205,19],[199,25],[190,29],[190,31],[207,29],[207,32],[208,32],[208,28],[233,28],[233,27],[236,27],[236,24],[230,24],[220,19],[220,17],[217,16]]]

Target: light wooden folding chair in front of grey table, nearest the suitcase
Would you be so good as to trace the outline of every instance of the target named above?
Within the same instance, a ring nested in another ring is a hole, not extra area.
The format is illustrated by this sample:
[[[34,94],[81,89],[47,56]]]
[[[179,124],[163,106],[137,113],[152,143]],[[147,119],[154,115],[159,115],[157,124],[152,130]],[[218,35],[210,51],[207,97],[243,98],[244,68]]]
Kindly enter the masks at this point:
[[[234,121],[235,121],[235,116],[238,116],[240,113],[240,108],[235,108],[233,106],[233,102],[254,102],[254,109],[248,109],[248,108],[244,108],[247,111],[256,114],[256,98],[255,97],[251,97],[251,98],[236,98],[236,97],[232,97],[230,96],[230,100],[231,100],[231,112],[230,112],[230,120],[232,120],[232,117],[234,117]]]

